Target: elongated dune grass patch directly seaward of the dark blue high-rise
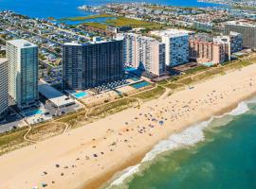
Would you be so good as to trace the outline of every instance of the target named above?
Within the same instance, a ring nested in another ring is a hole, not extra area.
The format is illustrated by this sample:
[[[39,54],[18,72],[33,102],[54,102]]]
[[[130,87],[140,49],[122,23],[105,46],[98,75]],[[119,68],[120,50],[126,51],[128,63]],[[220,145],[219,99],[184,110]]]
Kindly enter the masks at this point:
[[[107,103],[102,105],[101,107],[93,109],[91,112],[88,113],[88,116],[105,116],[110,113],[120,112],[132,107],[133,104],[136,102],[137,100],[134,98],[120,99],[118,101]]]

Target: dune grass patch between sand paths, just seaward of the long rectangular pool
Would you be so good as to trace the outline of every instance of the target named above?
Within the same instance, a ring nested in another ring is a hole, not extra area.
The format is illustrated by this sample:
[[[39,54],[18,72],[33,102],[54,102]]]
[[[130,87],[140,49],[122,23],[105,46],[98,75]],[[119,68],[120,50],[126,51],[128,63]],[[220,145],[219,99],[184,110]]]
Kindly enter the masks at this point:
[[[164,94],[165,88],[158,86],[155,89],[143,92],[141,94],[135,94],[133,97],[140,98],[142,100],[151,100],[158,98],[161,94]]]

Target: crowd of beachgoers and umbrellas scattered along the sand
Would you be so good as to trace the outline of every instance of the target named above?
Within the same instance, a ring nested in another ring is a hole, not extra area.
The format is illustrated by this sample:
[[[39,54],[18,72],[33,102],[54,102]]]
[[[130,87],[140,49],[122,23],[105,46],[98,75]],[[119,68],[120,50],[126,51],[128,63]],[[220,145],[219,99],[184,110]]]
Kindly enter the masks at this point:
[[[165,127],[174,127],[180,120],[190,120],[191,116],[196,114],[193,113],[195,111],[207,112],[210,107],[213,108],[218,103],[229,100],[229,95],[241,93],[242,90],[248,87],[254,87],[253,83],[254,80],[250,78],[247,85],[244,86],[235,87],[229,85],[225,91],[218,91],[216,87],[215,90],[210,91],[208,94],[204,95],[204,97],[200,95],[198,99],[194,97],[190,98],[189,95],[186,100],[178,100],[178,98],[173,99],[172,96],[166,97],[164,103],[159,102],[158,104],[155,103],[155,105],[146,106],[143,109],[141,108],[136,116],[124,121],[122,128],[119,130],[109,126],[109,129],[106,130],[102,138],[92,138],[90,143],[88,143],[88,139],[81,139],[82,141],[86,140],[86,143],[81,143],[84,148],[76,159],[70,161],[72,163],[55,163],[52,164],[52,166],[56,168],[59,177],[62,178],[70,174],[75,176],[76,168],[85,164],[88,165],[88,163],[91,165],[94,164],[98,166],[99,169],[103,170],[105,164],[102,164],[100,160],[104,158],[104,156],[109,156],[111,155],[110,153],[113,153],[114,156],[116,150],[124,149],[123,146],[126,146],[127,149],[123,151],[123,153],[129,153],[129,148],[136,148],[140,145],[137,143],[137,137],[143,136],[145,139],[144,143],[147,143],[147,140],[150,140],[155,134],[164,131]],[[192,90],[196,90],[196,87]],[[106,146],[104,150],[100,150],[98,147],[102,146],[102,144]],[[113,157],[113,160],[115,160],[115,157]],[[44,178],[48,176],[47,170],[42,170],[41,176],[43,178],[42,180],[44,180]],[[55,183],[55,180],[48,183],[43,181],[40,184],[40,188],[45,188]],[[33,186],[32,188],[37,189],[39,187]]]

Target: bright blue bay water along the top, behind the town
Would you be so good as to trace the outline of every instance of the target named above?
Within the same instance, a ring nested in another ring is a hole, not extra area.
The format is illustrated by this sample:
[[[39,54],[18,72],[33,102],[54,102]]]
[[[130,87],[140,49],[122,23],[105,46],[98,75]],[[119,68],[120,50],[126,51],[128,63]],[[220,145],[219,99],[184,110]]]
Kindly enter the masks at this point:
[[[183,7],[210,7],[213,4],[199,3],[196,0],[1,0],[0,10],[13,10],[34,18],[64,18],[93,14],[77,9],[79,6],[97,6],[113,2],[149,2]]]

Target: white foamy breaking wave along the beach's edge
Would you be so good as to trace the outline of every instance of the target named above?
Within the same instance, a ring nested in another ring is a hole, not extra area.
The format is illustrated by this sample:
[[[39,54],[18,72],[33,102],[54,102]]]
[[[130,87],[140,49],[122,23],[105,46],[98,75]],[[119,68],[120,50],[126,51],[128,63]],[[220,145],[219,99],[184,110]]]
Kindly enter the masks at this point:
[[[181,132],[172,134],[167,140],[160,141],[157,145],[153,147],[151,151],[149,151],[141,163],[138,163],[137,165],[130,166],[126,169],[124,169],[118,178],[114,178],[114,181],[110,183],[110,185],[107,187],[107,189],[119,186],[121,184],[125,184],[127,182],[128,178],[130,178],[132,175],[143,171],[141,170],[140,166],[143,163],[151,162],[155,159],[155,157],[163,153],[165,151],[175,150],[179,149],[183,146],[194,146],[195,144],[202,142],[205,140],[205,134],[204,129],[208,128],[210,126],[210,123],[214,119],[220,119],[224,116],[231,115],[231,116],[237,116],[240,114],[244,114],[247,111],[249,111],[248,104],[256,103],[256,98],[243,101],[238,104],[238,106],[233,109],[231,112],[224,113],[219,116],[212,116],[209,120],[200,122],[198,124],[194,124],[191,127],[184,129]],[[226,123],[227,125],[228,123]]]

